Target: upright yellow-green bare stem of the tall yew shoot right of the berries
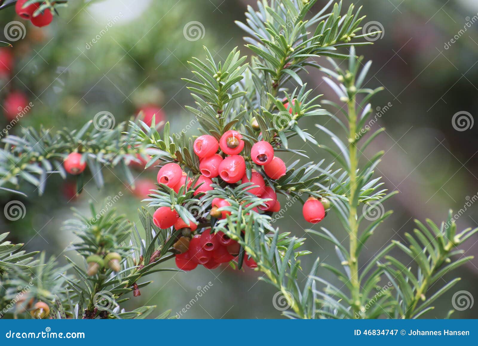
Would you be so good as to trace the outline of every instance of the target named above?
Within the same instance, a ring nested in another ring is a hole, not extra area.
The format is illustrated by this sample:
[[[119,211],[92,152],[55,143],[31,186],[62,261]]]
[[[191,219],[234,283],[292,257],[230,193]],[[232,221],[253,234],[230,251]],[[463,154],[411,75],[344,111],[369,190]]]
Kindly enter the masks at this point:
[[[350,268],[350,282],[352,285],[352,307],[354,310],[354,317],[359,316],[360,313],[360,281],[359,281],[359,263],[357,255],[357,242],[359,235],[359,224],[357,217],[357,145],[355,144],[355,135],[357,131],[357,114],[355,109],[355,96],[348,101],[348,121],[349,121],[349,134],[348,141],[350,143],[349,159],[350,159],[350,171],[349,171],[349,215],[348,215],[348,236],[349,236],[349,258],[348,266]]]

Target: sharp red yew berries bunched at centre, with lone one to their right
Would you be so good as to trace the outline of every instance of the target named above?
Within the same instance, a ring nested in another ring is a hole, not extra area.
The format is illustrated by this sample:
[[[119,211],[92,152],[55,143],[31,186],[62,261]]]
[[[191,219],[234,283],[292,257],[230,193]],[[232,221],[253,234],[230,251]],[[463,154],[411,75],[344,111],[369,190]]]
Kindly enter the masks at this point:
[[[244,140],[239,132],[226,131],[219,141],[212,135],[201,135],[196,138],[193,150],[199,157],[200,175],[197,179],[190,179],[177,163],[167,163],[158,172],[159,184],[166,185],[176,193],[182,187],[188,189],[194,184],[193,195],[202,196],[206,191],[213,190],[212,179],[218,179],[219,183],[227,184],[252,184],[245,189],[257,197],[267,199],[255,212],[278,212],[281,209],[277,194],[272,185],[266,185],[265,176],[269,179],[280,179],[286,174],[286,166],[281,158],[274,155],[274,148],[269,142],[259,141],[252,145],[250,157],[241,156],[244,150]],[[219,151],[219,153],[218,153]],[[251,169],[250,178],[246,173],[246,159],[256,164],[258,170]],[[324,201],[310,197],[304,204],[304,218],[307,222],[318,223],[325,217]],[[223,207],[230,206],[224,199],[215,198],[211,202],[209,214],[217,219],[224,219],[230,212]],[[328,209],[328,208],[327,208]],[[179,216],[170,206],[159,207],[153,214],[153,222],[156,226],[165,229],[174,226],[176,230],[188,229],[175,244],[174,249],[179,252],[176,255],[176,265],[184,270],[192,270],[198,264],[206,268],[217,268],[221,263],[234,260],[239,254],[239,244],[228,238],[222,232],[211,234],[210,228],[201,234],[196,232],[197,225],[189,224]],[[196,233],[196,234],[195,234]],[[194,235],[195,234],[195,235]],[[256,268],[257,264],[252,258],[245,257],[245,263],[250,268]]]

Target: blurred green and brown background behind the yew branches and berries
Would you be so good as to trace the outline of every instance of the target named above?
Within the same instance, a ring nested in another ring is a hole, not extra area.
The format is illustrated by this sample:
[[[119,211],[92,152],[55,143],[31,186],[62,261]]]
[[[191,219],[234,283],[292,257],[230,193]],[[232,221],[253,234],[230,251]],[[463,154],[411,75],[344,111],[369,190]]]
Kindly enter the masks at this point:
[[[246,7],[255,6],[254,2],[70,1],[67,8],[60,9],[60,17],[43,29],[22,21],[13,8],[0,11],[2,28],[12,21],[24,25],[20,37],[13,40],[5,37],[6,30],[0,33],[0,40],[13,45],[0,48],[9,49],[13,55],[11,71],[0,77],[0,104],[5,110],[5,99],[15,90],[22,91],[33,103],[11,133],[30,125],[53,130],[78,128],[105,111],[120,123],[151,105],[162,109],[173,131],[182,131],[193,119],[184,105],[194,106],[180,79],[191,75],[186,61],[191,56],[203,58],[202,45],[207,45],[217,59],[227,56],[235,46],[243,47],[243,32],[234,21],[244,21]],[[319,0],[317,11],[326,2]],[[344,1],[344,5],[349,3]],[[386,127],[386,132],[364,154],[371,157],[385,150],[377,174],[383,177],[387,189],[400,191],[385,205],[394,214],[362,253],[360,261],[366,264],[391,239],[404,241],[403,234],[413,230],[414,218],[430,218],[438,223],[452,208],[463,211],[456,221],[459,229],[478,226],[478,205],[471,203],[478,194],[478,125],[458,131],[452,123],[457,112],[469,112],[473,121],[478,114],[478,2],[359,0],[356,4],[363,6],[362,14],[367,14],[362,26],[382,30],[374,38],[374,45],[358,48],[366,60],[373,60],[367,85],[385,88],[373,100],[373,108],[380,114],[373,126]],[[245,47],[241,51],[250,54]],[[325,59],[318,60],[328,67]],[[318,94],[324,94],[324,99],[334,99],[319,71],[311,70],[304,80]],[[315,122],[326,123],[326,119],[310,120],[303,127],[315,128]],[[1,116],[1,128],[7,123]],[[187,129],[188,134],[197,134],[195,128]],[[325,134],[316,136],[319,142],[328,141]],[[331,160],[316,147],[301,141],[294,144],[307,150],[314,161]],[[1,232],[11,231],[11,241],[26,243],[28,250],[44,250],[64,261],[64,252],[60,251],[72,240],[72,234],[61,232],[61,225],[71,216],[71,207],[87,213],[88,201],[101,206],[108,196],[122,191],[123,197],[115,207],[136,222],[136,209],[144,205],[136,196],[141,195],[140,188],[135,194],[114,172],[105,171],[107,184],[103,190],[98,191],[90,181],[78,197],[74,197],[73,179],[51,177],[47,192],[40,197],[25,184],[22,190],[30,196],[21,199],[26,206],[25,217],[11,222],[1,215]],[[155,169],[138,170],[137,175],[137,181],[154,181]],[[0,207],[3,209],[12,199],[18,196],[0,193]],[[282,205],[286,202],[281,200]],[[276,225],[304,236],[310,224],[294,217],[301,213],[301,204],[288,209],[289,217]],[[320,226],[339,239],[346,237],[333,213]],[[477,236],[467,241],[462,247],[464,256],[478,254],[477,242]],[[309,238],[305,247],[321,261],[339,265],[330,244]],[[402,256],[398,251],[395,255]],[[314,259],[315,256],[304,258],[304,273],[308,273]],[[275,290],[258,281],[259,275],[252,270],[238,272],[226,267],[213,271],[198,268],[186,274],[161,273],[150,278],[154,283],[130,304],[158,305],[158,312],[173,309],[177,313],[207,285],[206,293],[187,307],[182,318],[278,318],[280,312],[272,303]],[[325,271],[319,275],[334,279]],[[477,258],[447,275],[460,276],[462,280],[426,315],[428,318],[443,318],[452,309],[452,295],[458,290],[467,290],[478,298]],[[452,316],[478,318],[476,305]]]

